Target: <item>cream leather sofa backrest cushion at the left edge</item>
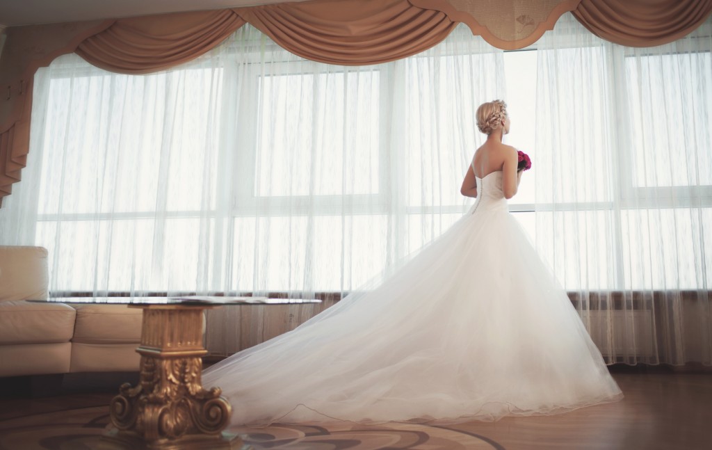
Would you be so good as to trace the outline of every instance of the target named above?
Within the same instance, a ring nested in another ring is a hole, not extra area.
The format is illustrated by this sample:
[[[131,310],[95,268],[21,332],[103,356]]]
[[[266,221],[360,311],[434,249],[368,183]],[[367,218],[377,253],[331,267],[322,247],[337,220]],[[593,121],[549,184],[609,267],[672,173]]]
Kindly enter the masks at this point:
[[[47,298],[47,249],[0,246],[0,302]]]

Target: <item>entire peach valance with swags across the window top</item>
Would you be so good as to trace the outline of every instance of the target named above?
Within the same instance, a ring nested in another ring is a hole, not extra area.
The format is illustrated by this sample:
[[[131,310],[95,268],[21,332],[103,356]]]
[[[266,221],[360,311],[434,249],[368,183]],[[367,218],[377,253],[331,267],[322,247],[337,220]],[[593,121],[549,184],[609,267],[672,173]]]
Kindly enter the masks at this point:
[[[496,9],[469,0],[313,0],[8,28],[0,60],[0,206],[26,165],[33,75],[62,54],[112,72],[151,73],[201,56],[250,23],[303,58],[363,66],[425,51],[460,22],[493,46],[523,48],[566,11],[608,41],[658,46],[699,26],[712,0],[506,0]]]

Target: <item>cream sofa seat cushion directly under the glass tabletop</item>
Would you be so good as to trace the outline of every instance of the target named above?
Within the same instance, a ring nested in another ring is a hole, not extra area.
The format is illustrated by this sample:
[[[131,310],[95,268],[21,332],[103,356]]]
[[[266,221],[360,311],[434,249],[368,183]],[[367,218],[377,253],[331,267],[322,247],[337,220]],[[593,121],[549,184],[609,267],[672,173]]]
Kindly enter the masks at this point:
[[[141,342],[143,310],[127,305],[73,305],[77,311],[72,342],[136,344]]]

